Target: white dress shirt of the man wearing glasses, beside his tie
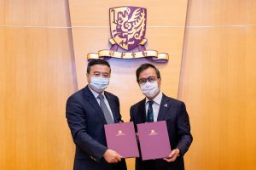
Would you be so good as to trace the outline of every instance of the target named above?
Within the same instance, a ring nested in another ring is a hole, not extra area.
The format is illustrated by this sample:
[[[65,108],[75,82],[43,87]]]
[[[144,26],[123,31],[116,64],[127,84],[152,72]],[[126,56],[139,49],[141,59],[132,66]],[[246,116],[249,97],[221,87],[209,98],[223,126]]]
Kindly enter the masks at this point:
[[[161,104],[162,97],[163,97],[163,93],[160,92],[153,99],[154,103],[152,105],[152,108],[153,108],[154,122],[157,122],[157,116],[159,114],[160,104]],[[145,102],[146,117],[148,117],[148,105],[149,105],[148,101],[149,101],[149,99],[146,98],[146,102]]]

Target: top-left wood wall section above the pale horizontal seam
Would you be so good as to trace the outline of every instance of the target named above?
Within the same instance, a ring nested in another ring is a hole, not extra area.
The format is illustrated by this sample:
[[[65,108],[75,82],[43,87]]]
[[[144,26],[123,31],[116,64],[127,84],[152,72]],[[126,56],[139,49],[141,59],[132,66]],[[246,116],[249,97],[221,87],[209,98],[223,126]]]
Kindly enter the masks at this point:
[[[0,26],[68,26],[67,0],[1,0]]]

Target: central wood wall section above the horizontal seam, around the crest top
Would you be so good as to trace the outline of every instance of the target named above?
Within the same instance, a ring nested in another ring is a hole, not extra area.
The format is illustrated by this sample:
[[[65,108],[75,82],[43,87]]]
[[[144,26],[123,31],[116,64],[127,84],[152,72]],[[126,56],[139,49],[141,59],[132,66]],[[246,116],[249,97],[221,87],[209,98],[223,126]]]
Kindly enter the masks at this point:
[[[119,6],[147,8],[147,26],[184,26],[187,0],[71,0],[72,26],[109,26],[108,9]]]

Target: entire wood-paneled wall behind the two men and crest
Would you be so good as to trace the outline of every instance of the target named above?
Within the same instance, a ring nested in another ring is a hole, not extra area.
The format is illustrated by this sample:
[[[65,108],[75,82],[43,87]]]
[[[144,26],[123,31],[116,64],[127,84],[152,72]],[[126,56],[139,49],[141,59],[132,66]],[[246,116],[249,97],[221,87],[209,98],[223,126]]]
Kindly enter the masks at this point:
[[[73,169],[66,100],[86,84],[85,55],[109,48],[108,8],[120,5],[148,8],[147,48],[170,54],[157,66],[163,92],[189,111],[186,169],[256,169],[254,0],[0,0],[0,169]],[[125,121],[145,61],[109,60]]]

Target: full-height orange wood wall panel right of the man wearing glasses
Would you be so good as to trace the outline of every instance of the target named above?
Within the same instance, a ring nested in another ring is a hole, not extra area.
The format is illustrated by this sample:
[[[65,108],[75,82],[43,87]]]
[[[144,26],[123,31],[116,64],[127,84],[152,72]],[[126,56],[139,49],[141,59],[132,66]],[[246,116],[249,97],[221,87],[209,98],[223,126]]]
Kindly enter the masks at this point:
[[[194,142],[187,169],[256,169],[256,2],[189,2],[178,98]]]

